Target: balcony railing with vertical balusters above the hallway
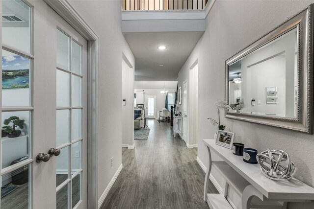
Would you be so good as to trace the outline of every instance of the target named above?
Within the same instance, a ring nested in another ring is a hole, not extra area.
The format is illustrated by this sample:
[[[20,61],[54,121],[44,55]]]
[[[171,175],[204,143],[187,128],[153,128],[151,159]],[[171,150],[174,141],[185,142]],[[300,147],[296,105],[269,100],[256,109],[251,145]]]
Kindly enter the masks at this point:
[[[123,0],[123,10],[202,10],[208,0]]]

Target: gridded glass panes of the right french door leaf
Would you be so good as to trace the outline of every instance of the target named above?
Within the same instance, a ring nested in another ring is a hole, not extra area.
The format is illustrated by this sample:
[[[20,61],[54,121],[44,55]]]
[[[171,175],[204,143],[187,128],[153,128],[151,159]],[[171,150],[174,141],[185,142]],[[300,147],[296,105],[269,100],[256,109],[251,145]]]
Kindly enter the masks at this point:
[[[56,147],[61,150],[56,203],[57,209],[72,209],[82,199],[82,45],[61,29],[56,31]]]

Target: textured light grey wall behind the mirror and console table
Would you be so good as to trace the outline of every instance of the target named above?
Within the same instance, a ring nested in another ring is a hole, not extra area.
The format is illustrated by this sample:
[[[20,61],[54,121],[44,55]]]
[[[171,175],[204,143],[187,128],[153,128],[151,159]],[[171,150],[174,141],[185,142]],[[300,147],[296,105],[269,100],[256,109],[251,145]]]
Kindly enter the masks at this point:
[[[205,165],[209,159],[202,139],[213,138],[217,130],[217,127],[209,124],[207,118],[217,117],[213,103],[219,98],[224,99],[225,61],[313,2],[217,0],[213,5],[207,17],[206,32],[179,72],[181,86],[183,76],[188,77],[188,69],[198,59],[198,157]],[[295,177],[314,186],[314,164],[309,160],[309,153],[314,150],[313,135],[227,119],[223,115],[221,123],[226,125],[226,131],[235,132],[235,141],[243,142],[247,147],[256,148],[259,152],[268,147],[287,151],[298,169]],[[216,175],[215,170],[212,173],[222,186],[219,175]],[[234,202],[238,202],[236,198]],[[288,207],[310,209],[314,205],[289,203]]]

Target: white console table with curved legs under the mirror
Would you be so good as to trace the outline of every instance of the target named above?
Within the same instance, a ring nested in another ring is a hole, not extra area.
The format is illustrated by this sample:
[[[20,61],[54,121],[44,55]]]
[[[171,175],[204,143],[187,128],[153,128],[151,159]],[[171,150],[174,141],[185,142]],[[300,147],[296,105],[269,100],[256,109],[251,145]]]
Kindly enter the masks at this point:
[[[208,148],[209,164],[204,183],[204,200],[211,209],[232,209],[226,200],[228,186],[241,197],[242,209],[287,208],[288,202],[311,202],[314,200],[314,188],[293,178],[290,181],[274,181],[262,174],[259,164],[243,161],[231,149],[215,144],[214,139],[203,139]],[[210,152],[216,153],[223,161],[211,161]],[[207,194],[209,174],[214,166],[226,180],[224,194]],[[256,202],[257,201],[257,202]],[[264,205],[264,206],[263,206]]]

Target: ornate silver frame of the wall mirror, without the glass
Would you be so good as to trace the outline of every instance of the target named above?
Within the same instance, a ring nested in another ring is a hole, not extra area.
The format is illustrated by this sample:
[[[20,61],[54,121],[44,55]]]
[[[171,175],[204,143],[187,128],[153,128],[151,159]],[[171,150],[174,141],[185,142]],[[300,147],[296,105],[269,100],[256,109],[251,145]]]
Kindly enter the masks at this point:
[[[313,134],[313,4],[265,34],[225,62],[225,99],[229,104],[229,65],[297,28],[297,116],[259,116],[225,111],[225,117]]]

